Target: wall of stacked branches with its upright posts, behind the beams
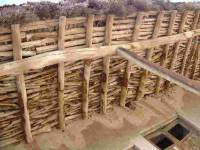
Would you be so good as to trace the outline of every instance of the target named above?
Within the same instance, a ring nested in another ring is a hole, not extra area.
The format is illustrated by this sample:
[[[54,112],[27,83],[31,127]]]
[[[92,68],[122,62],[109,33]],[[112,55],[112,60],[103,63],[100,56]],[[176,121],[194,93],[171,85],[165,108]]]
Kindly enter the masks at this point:
[[[62,16],[58,20],[0,27],[0,66],[51,51],[128,44],[196,30],[200,28],[199,14],[150,11],[126,17]],[[134,52],[199,80],[198,40],[195,36]],[[169,85],[117,55],[61,61],[0,76],[0,147],[22,140],[31,142],[33,136],[52,128],[64,130],[71,121],[106,113],[114,105],[130,107],[132,102]]]

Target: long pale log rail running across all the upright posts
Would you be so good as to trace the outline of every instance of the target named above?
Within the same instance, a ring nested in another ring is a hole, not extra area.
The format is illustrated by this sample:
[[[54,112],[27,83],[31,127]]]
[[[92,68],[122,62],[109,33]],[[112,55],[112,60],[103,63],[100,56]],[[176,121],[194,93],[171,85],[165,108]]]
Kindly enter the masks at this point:
[[[112,46],[102,46],[97,48],[81,48],[74,50],[57,50],[53,52],[47,52],[44,54],[39,54],[37,56],[32,56],[25,58],[23,60],[17,60],[5,64],[1,64],[0,76],[4,75],[16,75],[21,72],[26,72],[31,69],[40,69],[46,66],[58,64],[62,61],[77,61],[81,59],[93,59],[97,57],[105,57],[116,54],[116,49],[118,47],[123,47],[126,49],[147,49],[154,48],[160,45],[173,44],[180,40],[186,40],[195,36],[200,35],[200,29],[180,33],[177,35],[160,37],[150,40],[132,42],[127,44],[119,44]]]

